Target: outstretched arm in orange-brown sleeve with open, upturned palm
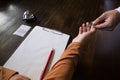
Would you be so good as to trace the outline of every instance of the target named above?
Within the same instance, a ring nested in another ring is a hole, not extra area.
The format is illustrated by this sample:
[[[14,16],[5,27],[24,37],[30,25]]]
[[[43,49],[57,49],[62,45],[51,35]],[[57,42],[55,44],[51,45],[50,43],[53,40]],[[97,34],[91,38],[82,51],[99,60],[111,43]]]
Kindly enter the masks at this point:
[[[73,39],[72,43],[64,51],[61,58],[52,67],[44,80],[71,80],[75,68],[80,60],[86,42],[90,36],[95,33],[93,26],[89,27],[89,23],[83,24],[78,35]]]

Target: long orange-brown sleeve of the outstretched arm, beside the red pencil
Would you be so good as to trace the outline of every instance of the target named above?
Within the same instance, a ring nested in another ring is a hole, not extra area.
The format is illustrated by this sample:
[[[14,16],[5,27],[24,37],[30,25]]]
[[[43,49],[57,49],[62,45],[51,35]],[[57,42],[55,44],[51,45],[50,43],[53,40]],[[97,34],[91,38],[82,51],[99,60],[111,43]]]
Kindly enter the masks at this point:
[[[44,80],[71,80],[80,59],[80,43],[71,43]]]

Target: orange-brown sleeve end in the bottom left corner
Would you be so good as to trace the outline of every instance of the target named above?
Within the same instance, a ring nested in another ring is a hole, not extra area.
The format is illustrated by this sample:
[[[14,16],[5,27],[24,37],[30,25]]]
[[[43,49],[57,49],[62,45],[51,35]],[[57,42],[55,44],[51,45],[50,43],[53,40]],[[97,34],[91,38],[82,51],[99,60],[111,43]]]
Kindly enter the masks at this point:
[[[0,80],[9,80],[14,74],[18,74],[18,72],[0,66]]]

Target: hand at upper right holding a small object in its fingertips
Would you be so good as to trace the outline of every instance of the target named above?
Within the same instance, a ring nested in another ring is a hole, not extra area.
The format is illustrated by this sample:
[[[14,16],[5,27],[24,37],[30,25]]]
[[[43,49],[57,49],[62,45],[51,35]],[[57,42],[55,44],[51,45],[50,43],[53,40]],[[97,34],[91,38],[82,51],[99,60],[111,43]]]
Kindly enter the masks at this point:
[[[94,27],[99,29],[113,30],[120,22],[120,13],[117,10],[104,12],[100,17],[93,21]]]

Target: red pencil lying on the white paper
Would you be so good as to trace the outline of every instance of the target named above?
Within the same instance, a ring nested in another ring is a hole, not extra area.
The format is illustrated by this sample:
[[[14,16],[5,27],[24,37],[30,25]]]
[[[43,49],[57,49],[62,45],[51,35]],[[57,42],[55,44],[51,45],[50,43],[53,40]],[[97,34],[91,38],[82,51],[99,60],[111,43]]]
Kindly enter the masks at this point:
[[[46,70],[47,70],[47,68],[48,68],[48,66],[49,66],[49,63],[50,63],[50,61],[51,61],[51,58],[53,57],[53,54],[54,54],[54,49],[52,49],[51,52],[50,52],[50,54],[49,54],[48,60],[47,60],[47,62],[46,62],[46,64],[45,64],[45,67],[44,67],[44,69],[43,69],[43,71],[42,71],[42,74],[41,74],[41,76],[40,76],[40,80],[43,80],[43,78],[44,78],[44,76],[45,76],[45,73],[46,73]]]

